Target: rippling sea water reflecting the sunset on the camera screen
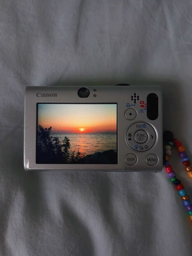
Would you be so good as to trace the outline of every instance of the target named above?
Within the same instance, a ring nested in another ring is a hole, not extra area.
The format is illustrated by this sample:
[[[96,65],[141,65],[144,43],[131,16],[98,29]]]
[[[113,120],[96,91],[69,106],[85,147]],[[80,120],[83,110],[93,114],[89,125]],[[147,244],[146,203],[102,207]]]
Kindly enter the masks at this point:
[[[54,134],[51,136],[58,137],[61,142],[65,136],[70,139],[69,152],[79,151],[85,155],[103,152],[106,150],[117,151],[117,134],[116,133],[65,133]]]

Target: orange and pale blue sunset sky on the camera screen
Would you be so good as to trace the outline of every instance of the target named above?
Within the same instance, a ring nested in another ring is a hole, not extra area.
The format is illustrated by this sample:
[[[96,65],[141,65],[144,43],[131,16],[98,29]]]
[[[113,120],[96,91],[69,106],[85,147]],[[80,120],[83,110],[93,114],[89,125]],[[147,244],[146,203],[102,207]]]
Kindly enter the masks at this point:
[[[117,104],[38,104],[38,124],[55,133],[116,132]]]

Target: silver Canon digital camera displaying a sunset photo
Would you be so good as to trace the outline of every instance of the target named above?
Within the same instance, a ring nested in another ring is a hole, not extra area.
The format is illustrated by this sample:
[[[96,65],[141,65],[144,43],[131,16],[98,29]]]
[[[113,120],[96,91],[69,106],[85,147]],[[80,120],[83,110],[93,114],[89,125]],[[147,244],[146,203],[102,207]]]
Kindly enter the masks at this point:
[[[26,171],[161,171],[162,133],[160,86],[26,88]]]

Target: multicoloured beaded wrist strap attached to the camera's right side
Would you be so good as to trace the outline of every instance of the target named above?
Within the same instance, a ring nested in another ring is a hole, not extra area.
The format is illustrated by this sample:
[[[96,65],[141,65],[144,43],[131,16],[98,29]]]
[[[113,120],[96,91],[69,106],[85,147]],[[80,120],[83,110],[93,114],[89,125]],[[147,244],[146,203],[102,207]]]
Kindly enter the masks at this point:
[[[176,189],[179,191],[179,194],[182,196],[183,204],[186,206],[187,211],[189,213],[190,219],[192,221],[192,205],[191,201],[189,200],[189,195],[187,194],[186,190],[184,189],[183,184],[180,180],[176,178],[175,172],[172,169],[171,164],[169,163],[169,158],[171,156],[171,148],[175,144],[178,148],[179,156],[182,158],[183,164],[185,165],[185,169],[188,171],[189,177],[192,178],[192,167],[190,165],[189,158],[186,156],[185,148],[182,146],[181,142],[177,139],[173,139],[173,134],[170,131],[166,131],[164,133],[164,141],[165,141],[165,155],[164,155],[164,165],[167,175],[170,181],[175,184]]]

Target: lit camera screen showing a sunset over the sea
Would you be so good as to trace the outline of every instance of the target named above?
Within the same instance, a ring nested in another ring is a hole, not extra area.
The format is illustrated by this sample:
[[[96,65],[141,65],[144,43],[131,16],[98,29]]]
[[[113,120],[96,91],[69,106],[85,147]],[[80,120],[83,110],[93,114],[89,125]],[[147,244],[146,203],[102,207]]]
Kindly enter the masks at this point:
[[[117,104],[37,104],[37,164],[117,164]]]

